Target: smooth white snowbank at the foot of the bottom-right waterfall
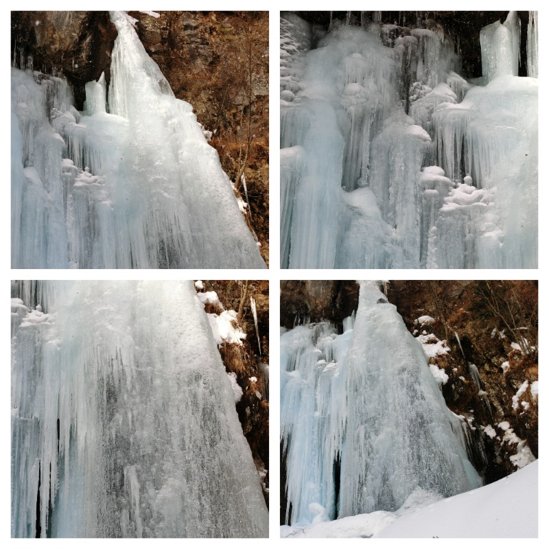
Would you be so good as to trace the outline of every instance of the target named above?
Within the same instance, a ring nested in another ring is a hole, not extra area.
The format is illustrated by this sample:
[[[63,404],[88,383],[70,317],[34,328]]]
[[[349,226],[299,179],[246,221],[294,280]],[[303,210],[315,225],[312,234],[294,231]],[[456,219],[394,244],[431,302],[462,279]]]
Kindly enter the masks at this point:
[[[536,460],[488,486],[396,513],[281,526],[281,537],[537,537],[537,469]]]

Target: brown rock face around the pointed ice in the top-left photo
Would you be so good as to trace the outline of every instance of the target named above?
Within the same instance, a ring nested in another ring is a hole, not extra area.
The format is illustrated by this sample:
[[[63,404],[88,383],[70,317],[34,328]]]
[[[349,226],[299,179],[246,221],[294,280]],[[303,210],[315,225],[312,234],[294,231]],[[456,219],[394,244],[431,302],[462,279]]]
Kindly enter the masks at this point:
[[[268,261],[268,12],[129,12],[178,99],[212,132],[226,174],[245,162],[250,229]],[[12,12],[12,64],[64,75],[82,109],[84,85],[105,73],[117,32],[108,12]],[[248,155],[246,156],[246,150]]]

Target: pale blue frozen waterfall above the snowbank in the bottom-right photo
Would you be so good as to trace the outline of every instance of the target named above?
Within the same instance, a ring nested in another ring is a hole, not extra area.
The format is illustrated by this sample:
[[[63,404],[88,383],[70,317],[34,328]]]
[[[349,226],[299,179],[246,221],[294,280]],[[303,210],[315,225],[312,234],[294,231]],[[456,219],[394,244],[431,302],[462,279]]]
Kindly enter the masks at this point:
[[[379,283],[361,283],[352,329],[349,320],[341,335],[329,323],[281,335],[292,524],[395,511],[417,489],[448,497],[482,483],[463,421]]]

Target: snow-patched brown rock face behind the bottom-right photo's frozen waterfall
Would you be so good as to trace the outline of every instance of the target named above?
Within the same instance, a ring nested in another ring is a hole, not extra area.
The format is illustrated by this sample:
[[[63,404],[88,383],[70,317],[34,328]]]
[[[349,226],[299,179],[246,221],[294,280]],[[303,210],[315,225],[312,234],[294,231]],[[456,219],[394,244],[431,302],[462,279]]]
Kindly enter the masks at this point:
[[[447,342],[430,363],[447,376],[447,406],[469,423],[485,482],[515,471],[526,446],[537,457],[537,281],[390,281],[386,290],[414,336]],[[281,281],[288,329],[309,318],[341,327],[357,305],[354,281]],[[285,510],[284,482],[282,460]]]

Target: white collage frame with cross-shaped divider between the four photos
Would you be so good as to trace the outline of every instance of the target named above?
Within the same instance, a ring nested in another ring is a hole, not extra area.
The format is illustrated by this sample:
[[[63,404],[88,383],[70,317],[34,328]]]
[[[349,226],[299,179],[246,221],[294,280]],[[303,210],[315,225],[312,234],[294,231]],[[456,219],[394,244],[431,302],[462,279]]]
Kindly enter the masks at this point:
[[[68,3],[64,2],[52,2],[56,4],[56,9],[70,9]],[[40,3],[31,2],[32,5],[40,6]],[[61,4],[60,7],[57,5]],[[100,2],[100,5],[103,5],[103,2]],[[145,5],[142,1],[138,1],[137,5],[143,5],[143,7],[150,8],[150,4]],[[161,7],[165,7],[161,3]],[[178,3],[173,0],[167,2],[167,10],[178,10]],[[278,75],[280,70],[279,62],[279,38],[280,38],[280,25],[279,25],[279,14],[281,11],[285,11],[284,8],[301,8],[306,10],[307,8],[315,8],[317,10],[322,9],[329,5],[327,2],[321,2],[320,8],[317,5],[312,5],[310,1],[296,0],[294,2],[282,1],[279,5],[274,6],[274,3],[268,2],[265,5],[259,6],[254,5],[253,2],[249,0],[242,0],[235,3],[236,8],[239,10],[266,10],[269,12],[270,21],[269,21],[269,30],[270,30],[270,40],[269,40],[269,82],[270,82],[270,93],[269,93],[269,141],[270,141],[270,152],[269,152],[269,167],[270,167],[270,177],[269,177],[269,217],[270,217],[270,229],[269,229],[269,248],[270,248],[270,257],[268,270],[259,270],[259,269],[185,269],[185,270],[152,270],[152,269],[134,269],[134,270],[115,270],[115,269],[105,269],[105,270],[61,270],[61,269],[14,269],[10,265],[10,200],[5,200],[3,204],[3,234],[4,237],[1,241],[1,255],[0,255],[0,265],[1,265],[1,276],[2,276],[2,286],[5,289],[5,292],[8,292],[8,285],[12,280],[17,279],[38,279],[38,280],[266,280],[269,283],[269,341],[270,341],[270,363],[275,365],[276,374],[272,375],[270,379],[270,441],[269,441],[269,450],[270,450],[270,515],[269,515],[269,539],[267,544],[269,546],[277,547],[284,544],[285,541],[281,540],[279,537],[279,513],[278,508],[280,504],[279,500],[279,484],[280,484],[280,463],[277,459],[279,456],[279,432],[280,432],[280,377],[278,374],[278,364],[280,363],[280,283],[283,280],[348,280],[348,281],[358,281],[363,279],[382,279],[382,280],[537,280],[541,283],[541,292],[539,293],[539,324],[541,325],[541,333],[546,331],[548,325],[547,314],[549,311],[549,292],[546,291],[546,284],[549,283],[549,255],[544,249],[544,244],[538,245],[538,268],[537,269],[510,269],[510,270],[494,270],[494,269],[476,269],[476,270],[411,270],[411,269],[395,269],[395,270],[360,270],[360,269],[281,269],[280,265],[280,252],[279,252],[279,220],[280,220],[280,204],[279,204],[279,193],[280,193],[280,165],[279,165],[279,149],[276,146],[279,143],[279,130],[280,130],[280,107],[279,107],[279,93],[276,86],[278,82]],[[349,3],[349,8],[360,8],[361,3],[352,0]],[[428,7],[437,9],[441,8],[450,8],[448,2],[427,2],[422,4],[428,4]],[[493,1],[489,1],[487,7],[494,7],[496,4]],[[548,16],[549,11],[544,5],[541,5],[540,2],[534,2],[534,7],[540,12],[540,15],[544,17]],[[207,8],[207,10],[224,10],[226,9],[227,3],[220,2],[218,0],[203,2],[197,0],[195,3],[197,8]],[[404,8],[406,3],[397,2],[390,0],[390,8],[398,10],[399,8]],[[26,6],[25,6],[26,7]],[[185,6],[186,7],[186,6]],[[482,6],[484,7],[484,5]],[[154,8],[154,6],[153,6]],[[463,5],[460,5],[460,10],[465,9],[475,10],[477,4],[471,1],[466,1]],[[12,10],[18,10],[19,8],[14,8]],[[27,8],[31,9],[31,8]],[[37,10],[43,9],[36,7]],[[98,9],[94,6],[94,10]],[[10,14],[8,10],[5,11],[3,21],[5,22],[6,27],[9,25]],[[6,36],[10,36],[10,30],[6,29]],[[547,51],[546,40],[543,36],[540,36],[540,45],[542,51]],[[7,46],[6,46],[7,47]],[[546,59],[541,58],[542,70],[540,70],[540,80],[542,86],[544,82],[547,82],[546,69],[547,62]],[[8,86],[5,86],[5,104],[8,104]],[[547,115],[547,107],[544,102],[539,102],[539,120],[544,121]],[[8,148],[8,131],[9,125],[7,125],[4,130],[4,143],[5,143],[5,155],[9,156]],[[540,131],[540,145],[539,149],[543,152],[546,150],[547,137],[546,130],[544,129],[543,124],[541,124]],[[6,158],[7,165],[8,159]],[[544,177],[548,172],[546,155],[541,154],[541,159],[539,161],[539,178],[538,180],[543,182]],[[539,185],[538,197],[539,204],[543,204],[546,201],[546,195],[548,194],[546,185]],[[547,234],[548,221],[543,215],[543,211],[538,206],[539,215],[539,236],[543,237]],[[543,243],[544,240],[541,240]],[[5,362],[10,363],[11,355],[11,340],[8,336],[10,334],[10,329],[8,327],[7,318],[3,321],[5,323],[3,329],[3,339],[1,340],[2,349],[5,356]],[[543,361],[546,357],[546,350],[544,344],[541,344],[541,360]],[[8,379],[5,379],[3,384],[3,399],[5,402],[10,402],[10,383]],[[6,405],[7,406],[7,405]],[[540,410],[541,414],[541,428],[539,432],[539,443],[541,446],[541,454],[544,455],[546,450],[546,412],[545,406]],[[5,487],[3,504],[1,505],[2,510],[2,522],[3,524],[3,538],[8,540],[8,543],[15,543],[14,539],[10,537],[10,491],[8,490],[8,485],[10,480],[8,479],[8,471],[10,471],[10,422],[7,419],[7,410],[5,412],[6,417],[2,422],[2,434],[5,441],[5,451],[2,454],[2,469],[4,471],[4,482],[3,486]],[[539,487],[544,487],[545,474],[541,477],[539,482]],[[548,506],[546,503],[546,495],[543,494],[543,490],[540,490],[539,502],[541,505],[541,512],[539,513],[540,517],[544,516]],[[549,528],[544,524],[543,520],[539,520],[539,530],[538,530],[537,539],[533,540],[535,544],[540,544],[541,540],[549,539]],[[275,540],[275,541],[273,541]],[[124,543],[130,544],[132,541],[130,539],[124,539],[121,542],[116,542],[113,539],[102,540],[107,544],[111,543]],[[178,544],[178,539],[161,539],[160,543],[164,546],[176,546]],[[493,540],[492,540],[493,541]],[[504,545],[511,545],[513,540],[505,540]],[[28,540],[18,541],[17,543],[26,544]],[[92,546],[93,540],[83,539],[80,541],[86,546]],[[457,543],[457,540],[452,540],[453,543]],[[450,543],[452,543],[450,542]],[[58,539],[56,543],[59,544],[69,544],[69,539]],[[236,544],[239,546],[249,546],[257,543],[255,539],[203,539],[200,540],[201,544],[207,544],[208,547],[215,547],[218,545],[223,546],[232,546],[236,547]],[[290,542],[291,543],[291,542]],[[305,541],[305,544],[312,544],[314,541]],[[351,545],[361,543],[358,539],[351,539],[349,541]],[[393,539],[388,542],[390,546],[397,546],[397,540]],[[280,544],[280,545],[279,545]],[[476,545],[476,544],[475,544]]]

